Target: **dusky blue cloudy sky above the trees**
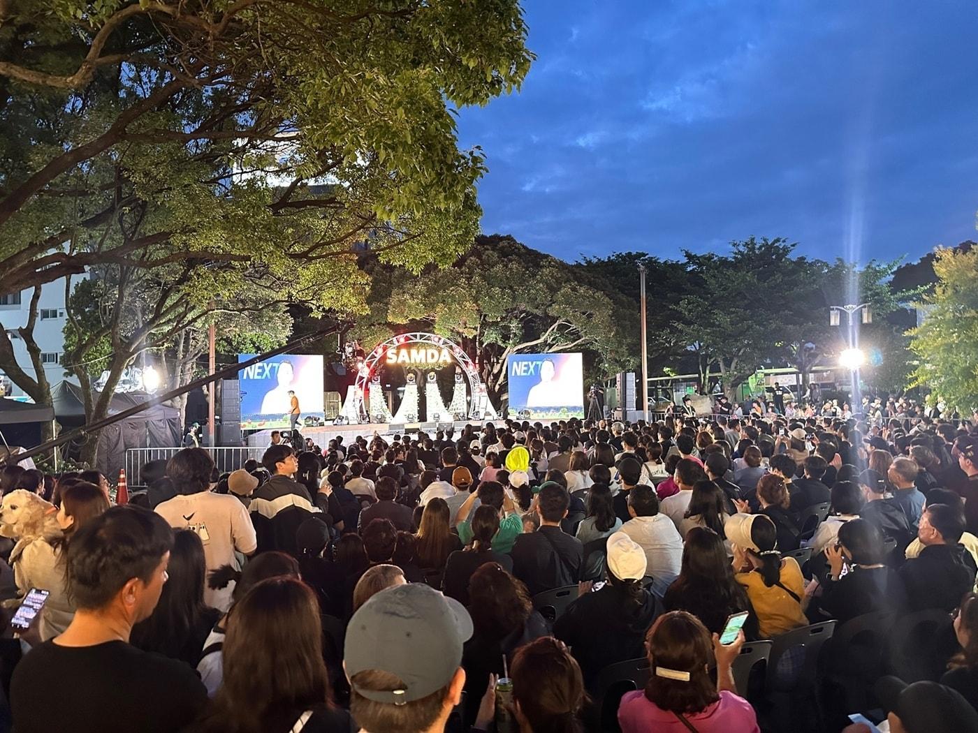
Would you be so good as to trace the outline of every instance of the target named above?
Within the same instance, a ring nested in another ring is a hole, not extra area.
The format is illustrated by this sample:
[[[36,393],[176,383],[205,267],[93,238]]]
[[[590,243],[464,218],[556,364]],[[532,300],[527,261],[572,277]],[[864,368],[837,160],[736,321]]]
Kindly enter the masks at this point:
[[[537,61],[464,110],[487,234],[567,260],[788,237],[915,259],[975,238],[978,5],[523,0]]]

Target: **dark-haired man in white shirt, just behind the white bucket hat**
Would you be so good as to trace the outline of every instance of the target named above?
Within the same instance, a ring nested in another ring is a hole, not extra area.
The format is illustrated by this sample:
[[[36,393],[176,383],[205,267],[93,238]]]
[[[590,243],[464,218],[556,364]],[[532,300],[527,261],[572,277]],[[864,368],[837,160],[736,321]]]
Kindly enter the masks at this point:
[[[650,486],[640,484],[629,492],[628,512],[621,532],[642,547],[645,574],[653,579],[652,591],[662,597],[683,565],[683,538],[673,521],[659,513],[659,499]]]

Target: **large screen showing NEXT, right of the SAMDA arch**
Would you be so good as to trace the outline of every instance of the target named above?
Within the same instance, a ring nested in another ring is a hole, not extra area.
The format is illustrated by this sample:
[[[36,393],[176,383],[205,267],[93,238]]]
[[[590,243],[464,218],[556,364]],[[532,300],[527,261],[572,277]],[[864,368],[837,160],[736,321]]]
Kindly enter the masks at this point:
[[[506,373],[511,417],[584,417],[584,366],[580,354],[516,354],[507,359]]]

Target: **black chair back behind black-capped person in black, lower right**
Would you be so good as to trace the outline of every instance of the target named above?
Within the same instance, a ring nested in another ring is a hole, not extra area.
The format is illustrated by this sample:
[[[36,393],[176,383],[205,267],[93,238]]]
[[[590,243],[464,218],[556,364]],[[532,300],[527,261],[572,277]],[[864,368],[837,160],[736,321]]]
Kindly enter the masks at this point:
[[[889,635],[896,614],[875,611],[839,625],[820,659],[822,701],[829,727],[841,730],[852,711],[869,711],[876,680],[887,674]]]

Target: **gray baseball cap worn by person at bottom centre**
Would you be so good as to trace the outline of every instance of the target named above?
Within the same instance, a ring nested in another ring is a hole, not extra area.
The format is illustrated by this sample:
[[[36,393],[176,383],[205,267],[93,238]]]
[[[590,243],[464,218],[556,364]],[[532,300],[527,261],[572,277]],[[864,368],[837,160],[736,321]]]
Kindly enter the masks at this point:
[[[472,635],[466,607],[422,583],[385,588],[361,606],[346,628],[343,664],[353,677],[379,669],[404,682],[403,690],[364,690],[377,703],[404,705],[437,692],[462,664]]]

